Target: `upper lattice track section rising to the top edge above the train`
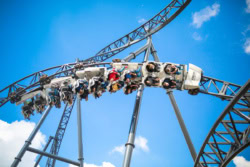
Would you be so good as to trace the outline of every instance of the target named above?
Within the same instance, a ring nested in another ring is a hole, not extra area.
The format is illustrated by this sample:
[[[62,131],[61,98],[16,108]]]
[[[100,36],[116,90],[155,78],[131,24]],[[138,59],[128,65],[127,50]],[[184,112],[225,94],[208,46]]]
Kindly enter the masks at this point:
[[[172,0],[164,9],[157,15],[147,21],[145,24],[124,35],[120,39],[112,42],[103,49],[101,49],[95,56],[90,57],[84,62],[102,62],[112,56],[120,53],[131,45],[153,35],[168,23],[170,23],[176,16],[178,16],[191,0]]]

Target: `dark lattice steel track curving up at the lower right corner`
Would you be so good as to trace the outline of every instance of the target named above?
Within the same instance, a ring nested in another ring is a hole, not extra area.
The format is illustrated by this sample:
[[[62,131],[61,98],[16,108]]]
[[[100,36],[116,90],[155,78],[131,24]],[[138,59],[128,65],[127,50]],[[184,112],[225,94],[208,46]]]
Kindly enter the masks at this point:
[[[226,166],[250,145],[250,80],[237,92],[208,133],[195,167]],[[240,105],[244,98],[248,106]]]

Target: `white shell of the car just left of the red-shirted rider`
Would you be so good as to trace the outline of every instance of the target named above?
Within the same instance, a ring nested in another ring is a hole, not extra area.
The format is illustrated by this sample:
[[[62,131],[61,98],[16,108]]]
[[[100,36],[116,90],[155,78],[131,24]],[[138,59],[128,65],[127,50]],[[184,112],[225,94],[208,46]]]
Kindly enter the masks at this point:
[[[105,77],[107,76],[106,73],[107,73],[106,67],[88,67],[85,68],[84,70],[76,71],[76,76],[79,79],[86,78],[87,80],[90,80],[94,76]]]

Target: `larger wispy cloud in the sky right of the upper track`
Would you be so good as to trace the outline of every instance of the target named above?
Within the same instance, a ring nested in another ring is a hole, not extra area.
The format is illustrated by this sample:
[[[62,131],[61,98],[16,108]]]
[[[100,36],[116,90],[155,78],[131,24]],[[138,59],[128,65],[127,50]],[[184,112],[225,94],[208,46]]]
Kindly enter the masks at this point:
[[[219,11],[220,4],[214,3],[212,6],[207,6],[199,12],[195,12],[192,15],[192,25],[195,28],[200,28],[204,22],[209,21],[211,17],[215,17],[216,15],[218,15]]]

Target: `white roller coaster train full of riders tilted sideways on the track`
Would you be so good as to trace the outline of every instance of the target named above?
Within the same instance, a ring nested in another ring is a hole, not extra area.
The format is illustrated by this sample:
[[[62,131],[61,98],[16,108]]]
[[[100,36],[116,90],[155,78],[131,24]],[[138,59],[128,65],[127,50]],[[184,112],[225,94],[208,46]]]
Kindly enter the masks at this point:
[[[123,85],[119,85],[118,82],[123,82],[124,84],[124,76],[127,74],[130,75],[130,81],[125,81],[127,85],[131,85],[131,82],[133,82],[134,84],[132,85],[136,85],[138,87],[138,85],[143,82],[146,86],[177,90],[187,89],[189,90],[189,94],[192,95],[196,95],[199,92],[202,70],[193,64],[189,64],[189,66],[187,66],[169,62],[148,62],[144,64],[121,62],[112,63],[111,65],[113,69],[109,71],[105,67],[89,67],[84,70],[77,71],[76,73],[78,77],[82,78],[77,81],[75,81],[72,77],[60,77],[51,80],[50,83],[44,85],[43,88],[34,89],[26,94],[17,96],[16,92],[13,92],[10,94],[10,100],[11,102],[16,102],[18,105],[24,103],[28,99],[34,100],[34,97],[36,96],[35,109],[41,113],[44,110],[46,103],[49,105],[55,105],[57,108],[61,107],[60,100],[63,100],[64,102],[67,101],[71,104],[74,93],[79,93],[80,95],[84,94],[84,97],[85,95],[87,97],[89,92],[104,92],[105,90],[103,89],[106,89],[107,85],[111,85],[112,87],[109,87],[109,90],[111,90],[111,92],[115,92],[122,88]],[[147,67],[148,65],[154,66],[154,68]],[[187,67],[189,67],[188,70]],[[150,68],[155,71],[151,72],[149,70]],[[107,82],[107,78],[112,71],[121,74],[121,76],[119,75],[118,80],[110,84]],[[141,73],[140,76],[136,71]],[[132,76],[132,74],[135,75]],[[46,80],[46,78],[47,77],[45,77],[44,80]],[[100,78],[102,80],[100,80]],[[74,85],[74,87],[72,87],[72,85]],[[89,91],[90,87],[92,87],[91,91]],[[126,86],[126,90],[128,90],[126,91],[127,94],[133,91],[130,87],[131,86]],[[135,88],[135,86],[133,88]],[[21,89],[22,88],[19,88],[17,92],[21,91]],[[48,92],[48,90],[50,91]]]

